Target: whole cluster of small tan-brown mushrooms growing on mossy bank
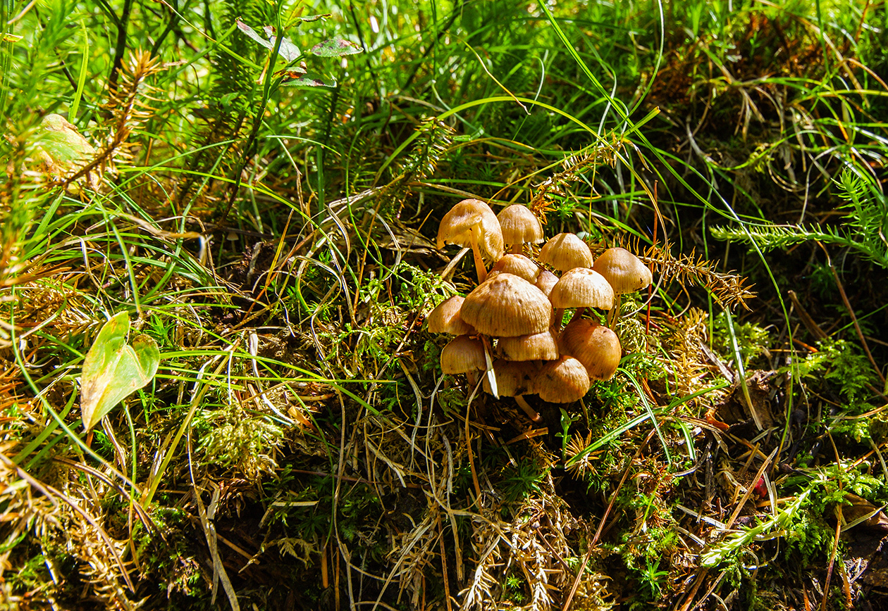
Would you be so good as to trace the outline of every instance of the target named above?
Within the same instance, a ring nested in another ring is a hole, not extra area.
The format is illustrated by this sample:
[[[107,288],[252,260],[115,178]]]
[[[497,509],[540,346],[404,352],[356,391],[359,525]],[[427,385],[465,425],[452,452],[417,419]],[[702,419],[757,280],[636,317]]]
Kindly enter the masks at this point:
[[[573,233],[546,242],[538,262],[523,254],[542,242],[543,226],[525,206],[495,215],[483,201],[459,202],[441,220],[438,247],[471,247],[479,284],[465,298],[441,302],[428,318],[431,333],[456,335],[441,351],[442,372],[464,373],[472,386],[484,373],[485,391],[514,397],[535,421],[540,416],[525,395],[572,403],[591,380],[609,380],[620,364],[616,333],[583,312],[613,310],[621,294],[652,281],[651,270],[628,250],[610,248],[593,261]],[[485,259],[493,262],[489,272]],[[543,265],[562,272],[560,278]],[[561,329],[567,309],[575,312]]]

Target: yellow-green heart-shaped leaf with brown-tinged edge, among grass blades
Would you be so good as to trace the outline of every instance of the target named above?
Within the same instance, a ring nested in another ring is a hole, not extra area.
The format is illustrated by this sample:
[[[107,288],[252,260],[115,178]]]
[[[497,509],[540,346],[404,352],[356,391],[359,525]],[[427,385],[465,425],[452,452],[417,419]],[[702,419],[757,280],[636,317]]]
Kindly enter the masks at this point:
[[[161,353],[157,342],[138,335],[126,345],[130,316],[121,312],[102,326],[83,361],[80,412],[89,431],[108,411],[155,377]]]

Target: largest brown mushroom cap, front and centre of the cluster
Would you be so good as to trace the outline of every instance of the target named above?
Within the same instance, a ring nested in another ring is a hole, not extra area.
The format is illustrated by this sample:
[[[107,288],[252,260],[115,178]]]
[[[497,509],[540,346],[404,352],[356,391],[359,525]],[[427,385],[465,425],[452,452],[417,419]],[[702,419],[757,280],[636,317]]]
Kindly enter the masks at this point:
[[[524,278],[500,273],[465,298],[460,316],[478,333],[515,337],[549,328],[552,306],[543,291]]]

